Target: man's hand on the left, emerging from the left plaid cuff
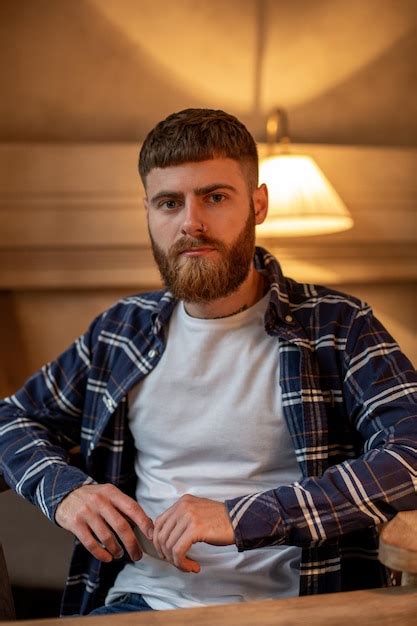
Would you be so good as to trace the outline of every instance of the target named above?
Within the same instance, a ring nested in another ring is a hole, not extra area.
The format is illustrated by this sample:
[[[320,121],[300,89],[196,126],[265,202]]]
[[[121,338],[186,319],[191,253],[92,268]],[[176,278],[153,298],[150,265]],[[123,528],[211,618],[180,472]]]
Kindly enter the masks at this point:
[[[78,487],[58,505],[55,520],[104,563],[120,558],[122,545],[132,561],[142,557],[132,525],[152,537],[152,520],[135,500],[110,484]]]

